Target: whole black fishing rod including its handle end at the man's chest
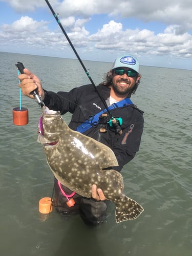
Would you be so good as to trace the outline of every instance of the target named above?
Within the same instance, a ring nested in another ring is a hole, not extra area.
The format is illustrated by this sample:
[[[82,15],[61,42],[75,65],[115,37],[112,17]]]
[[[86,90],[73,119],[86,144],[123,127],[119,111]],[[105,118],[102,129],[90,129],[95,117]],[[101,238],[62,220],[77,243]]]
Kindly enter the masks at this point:
[[[93,79],[91,78],[91,76],[90,76],[90,74],[89,74],[89,71],[88,71],[88,70],[86,69],[86,67],[84,66],[84,64],[83,64],[81,58],[79,57],[79,55],[78,55],[78,53],[77,53],[75,47],[73,46],[73,44],[72,44],[72,42],[71,42],[71,40],[70,40],[68,34],[66,33],[65,29],[64,29],[63,26],[61,25],[60,20],[59,20],[59,18],[58,18],[59,15],[54,12],[54,10],[53,10],[53,8],[52,8],[52,6],[50,5],[50,3],[49,3],[48,0],[45,0],[45,2],[47,3],[47,5],[48,5],[50,11],[52,12],[53,16],[55,17],[56,22],[58,23],[58,25],[59,25],[60,29],[62,30],[63,34],[66,36],[66,39],[68,40],[68,42],[69,42],[69,44],[70,44],[70,46],[71,46],[73,52],[75,53],[77,59],[79,60],[81,66],[82,66],[82,68],[83,68],[83,70],[86,72],[88,78],[90,79],[90,81],[91,81],[91,83],[92,83],[92,85],[93,85],[95,91],[97,92],[99,98],[101,99],[102,103],[104,104],[105,109],[106,109],[106,111],[108,112],[108,114],[109,114],[109,116],[110,116],[110,118],[111,118],[111,120],[112,120],[112,123],[113,123],[113,125],[114,125],[114,127],[115,127],[116,133],[118,133],[119,135],[121,135],[121,134],[122,134],[122,130],[121,130],[121,127],[120,127],[119,123],[118,123],[117,120],[112,116],[111,112],[109,111],[108,105],[106,104],[105,100],[103,99],[103,97],[101,96],[101,94],[99,93],[99,91],[97,90],[97,87],[95,86],[95,83],[94,83]]]

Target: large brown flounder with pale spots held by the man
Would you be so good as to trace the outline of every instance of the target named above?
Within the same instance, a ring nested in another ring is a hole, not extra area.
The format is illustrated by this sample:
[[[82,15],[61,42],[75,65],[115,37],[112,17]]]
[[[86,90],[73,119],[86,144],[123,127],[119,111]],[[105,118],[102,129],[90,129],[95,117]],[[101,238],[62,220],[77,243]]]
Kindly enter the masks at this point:
[[[92,185],[96,184],[106,199],[116,205],[117,223],[136,219],[141,214],[143,208],[122,194],[122,175],[114,169],[103,170],[118,166],[111,148],[71,130],[60,112],[46,114],[44,109],[41,126],[43,132],[39,132],[38,142],[44,147],[50,169],[61,184],[87,198],[91,198]],[[52,142],[57,143],[50,145]]]

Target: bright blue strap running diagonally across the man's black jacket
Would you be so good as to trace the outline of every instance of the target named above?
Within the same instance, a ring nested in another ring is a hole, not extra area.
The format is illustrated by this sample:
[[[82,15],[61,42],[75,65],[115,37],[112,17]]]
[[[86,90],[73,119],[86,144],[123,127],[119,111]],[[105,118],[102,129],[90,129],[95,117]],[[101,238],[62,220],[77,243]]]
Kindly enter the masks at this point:
[[[117,103],[113,103],[111,106],[109,106],[108,110],[113,110],[113,109],[117,109],[120,108],[121,106],[124,106],[126,104],[133,104],[133,102],[131,101],[130,98],[126,98],[123,99]],[[99,113],[97,113],[94,116],[91,116],[90,119],[87,119],[84,123],[81,123],[79,126],[76,127],[75,131],[80,132],[80,133],[84,133],[87,130],[89,130],[91,127],[94,127],[98,124],[99,121],[99,116],[103,113],[107,112],[106,109],[100,111]]]

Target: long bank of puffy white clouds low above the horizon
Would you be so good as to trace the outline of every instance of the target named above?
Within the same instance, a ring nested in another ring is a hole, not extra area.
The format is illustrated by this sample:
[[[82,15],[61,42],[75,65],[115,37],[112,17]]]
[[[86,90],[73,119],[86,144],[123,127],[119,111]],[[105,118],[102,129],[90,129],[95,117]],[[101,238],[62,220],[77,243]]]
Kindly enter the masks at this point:
[[[70,39],[75,47],[84,48],[83,52],[93,47],[105,51],[130,50],[135,54],[163,55],[171,54],[182,57],[192,56],[192,36],[188,33],[177,34],[177,26],[168,26],[164,33],[154,34],[153,31],[143,29],[123,29],[121,23],[111,20],[104,24],[98,32],[90,35],[84,28],[89,19],[70,17],[63,20],[70,32]],[[50,31],[48,22],[37,22],[31,17],[24,16],[12,25],[3,25],[0,32],[1,44],[10,41],[14,44],[29,45],[33,48],[51,48],[59,50],[66,48],[68,42],[59,30]]]

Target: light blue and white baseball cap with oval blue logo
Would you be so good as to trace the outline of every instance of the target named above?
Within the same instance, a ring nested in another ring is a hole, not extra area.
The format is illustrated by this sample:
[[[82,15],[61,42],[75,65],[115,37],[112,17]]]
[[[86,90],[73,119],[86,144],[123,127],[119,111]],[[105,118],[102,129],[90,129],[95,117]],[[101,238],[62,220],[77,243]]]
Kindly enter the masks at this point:
[[[115,62],[113,63],[112,69],[125,67],[135,70],[139,73],[139,60],[137,57],[133,56],[132,54],[123,54],[116,58]]]

